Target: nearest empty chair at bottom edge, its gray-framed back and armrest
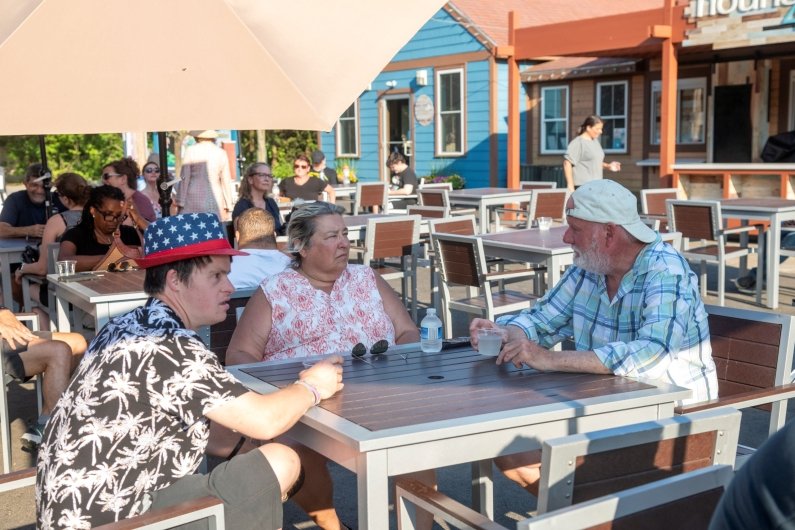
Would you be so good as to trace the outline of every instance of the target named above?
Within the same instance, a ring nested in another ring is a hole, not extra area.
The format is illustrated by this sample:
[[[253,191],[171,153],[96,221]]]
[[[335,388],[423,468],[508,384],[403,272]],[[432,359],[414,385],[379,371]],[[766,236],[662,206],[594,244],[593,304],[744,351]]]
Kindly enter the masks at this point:
[[[517,522],[518,530],[703,530],[734,476],[709,466]],[[507,530],[416,479],[395,481],[398,530],[416,528],[417,508],[454,528]]]

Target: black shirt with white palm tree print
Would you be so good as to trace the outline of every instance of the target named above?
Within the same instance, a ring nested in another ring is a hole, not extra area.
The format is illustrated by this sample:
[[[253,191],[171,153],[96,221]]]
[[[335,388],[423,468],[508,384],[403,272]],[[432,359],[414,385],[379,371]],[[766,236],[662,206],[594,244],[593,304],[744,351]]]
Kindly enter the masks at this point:
[[[207,411],[247,392],[174,311],[150,298],[89,345],[39,449],[39,528],[91,528],[196,472]]]

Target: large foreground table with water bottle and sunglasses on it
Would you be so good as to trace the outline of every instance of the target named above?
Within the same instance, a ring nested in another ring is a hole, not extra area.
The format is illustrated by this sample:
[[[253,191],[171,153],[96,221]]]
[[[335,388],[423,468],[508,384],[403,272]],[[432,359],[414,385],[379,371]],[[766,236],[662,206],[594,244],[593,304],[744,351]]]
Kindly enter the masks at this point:
[[[308,359],[227,370],[268,393],[292,384]],[[492,516],[492,458],[539,449],[552,437],[670,417],[690,395],[612,375],[497,366],[468,345],[440,353],[392,346],[365,359],[346,355],[345,388],[288,435],[357,474],[358,527],[371,530],[389,528],[389,477],[472,463],[473,502]]]

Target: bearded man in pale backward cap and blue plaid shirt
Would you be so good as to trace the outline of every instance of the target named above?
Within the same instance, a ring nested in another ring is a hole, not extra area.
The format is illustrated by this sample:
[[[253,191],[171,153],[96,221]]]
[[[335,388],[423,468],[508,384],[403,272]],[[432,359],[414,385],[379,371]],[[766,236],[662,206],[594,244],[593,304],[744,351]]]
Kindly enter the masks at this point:
[[[637,199],[612,180],[580,186],[566,204],[563,240],[574,266],[529,310],[504,316],[497,364],[615,374],[690,388],[686,403],[718,396],[698,278],[638,216]],[[470,325],[497,327],[489,320]],[[571,339],[574,349],[550,348]],[[538,494],[540,452],[496,460],[508,478]]]

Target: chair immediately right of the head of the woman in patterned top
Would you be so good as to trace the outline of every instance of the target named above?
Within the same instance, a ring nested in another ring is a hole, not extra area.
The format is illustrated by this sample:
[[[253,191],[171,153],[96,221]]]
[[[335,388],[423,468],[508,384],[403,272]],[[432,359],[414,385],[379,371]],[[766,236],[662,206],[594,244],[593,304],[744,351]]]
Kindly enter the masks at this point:
[[[420,244],[419,215],[379,217],[367,220],[363,260],[385,280],[400,279],[403,304],[408,306],[411,285],[411,316],[417,320],[417,257]],[[397,262],[389,263],[392,258]]]

